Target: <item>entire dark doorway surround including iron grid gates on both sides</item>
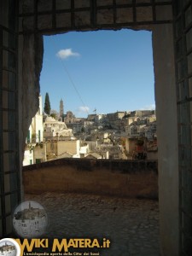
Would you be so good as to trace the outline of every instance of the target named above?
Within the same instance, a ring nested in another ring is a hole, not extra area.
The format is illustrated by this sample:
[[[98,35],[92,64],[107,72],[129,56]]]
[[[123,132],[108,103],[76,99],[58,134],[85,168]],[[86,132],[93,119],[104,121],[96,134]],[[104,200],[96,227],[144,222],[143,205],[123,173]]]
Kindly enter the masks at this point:
[[[153,35],[161,254],[191,255],[191,0],[3,0],[0,25],[0,236],[12,233],[12,213],[22,197],[21,166],[38,111],[43,35],[129,28]]]

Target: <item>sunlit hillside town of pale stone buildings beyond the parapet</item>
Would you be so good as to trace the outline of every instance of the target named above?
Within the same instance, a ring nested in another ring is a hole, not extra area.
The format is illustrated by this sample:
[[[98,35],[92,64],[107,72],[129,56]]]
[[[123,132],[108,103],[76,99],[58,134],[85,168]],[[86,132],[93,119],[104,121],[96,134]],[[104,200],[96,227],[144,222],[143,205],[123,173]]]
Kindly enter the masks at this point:
[[[45,113],[39,96],[38,113],[26,137],[23,166],[61,158],[156,160],[154,110],[93,112],[76,118],[73,112]]]

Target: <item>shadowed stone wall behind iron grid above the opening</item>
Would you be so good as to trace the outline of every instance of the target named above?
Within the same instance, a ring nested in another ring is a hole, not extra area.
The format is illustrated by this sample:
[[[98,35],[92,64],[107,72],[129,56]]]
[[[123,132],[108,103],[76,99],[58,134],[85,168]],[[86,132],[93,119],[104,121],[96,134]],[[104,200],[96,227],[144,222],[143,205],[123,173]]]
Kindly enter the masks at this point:
[[[134,1],[133,1],[134,2]],[[20,13],[25,15],[23,28],[27,31],[38,30],[52,33],[71,30],[86,31],[121,27],[131,27],[131,23],[140,26],[154,20],[169,20],[172,15],[172,3],[169,0],[139,0],[136,3],[127,0],[20,0]],[[32,14],[37,11],[36,19]],[[154,15],[157,13],[157,15]],[[166,15],[165,15],[166,14]],[[155,16],[155,17],[154,17]]]

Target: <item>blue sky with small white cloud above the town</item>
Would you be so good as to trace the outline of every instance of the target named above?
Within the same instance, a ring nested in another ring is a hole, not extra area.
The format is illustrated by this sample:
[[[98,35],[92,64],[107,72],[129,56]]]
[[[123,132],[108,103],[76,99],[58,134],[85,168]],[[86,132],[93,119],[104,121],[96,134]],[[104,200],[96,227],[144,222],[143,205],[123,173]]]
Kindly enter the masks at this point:
[[[76,117],[154,109],[152,35],[147,31],[67,32],[44,36],[41,95]],[[85,108],[84,108],[85,107]]]

